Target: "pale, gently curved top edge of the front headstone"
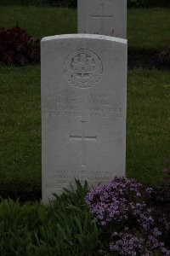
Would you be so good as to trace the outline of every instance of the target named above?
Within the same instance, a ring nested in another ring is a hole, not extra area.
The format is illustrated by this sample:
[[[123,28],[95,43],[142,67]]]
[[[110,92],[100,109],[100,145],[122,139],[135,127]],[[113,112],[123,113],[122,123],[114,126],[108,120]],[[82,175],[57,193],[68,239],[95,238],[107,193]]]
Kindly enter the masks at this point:
[[[93,38],[93,39],[100,39],[100,40],[106,40],[106,41],[112,41],[116,43],[122,43],[122,44],[127,44],[127,39],[124,38],[115,38],[115,37],[110,37],[110,36],[105,36],[105,35],[96,35],[96,34],[63,34],[63,35],[55,35],[55,36],[50,36],[50,37],[45,37],[42,38],[41,42],[46,42],[46,41],[52,41],[52,40],[58,40],[58,39],[71,39],[71,38]]]

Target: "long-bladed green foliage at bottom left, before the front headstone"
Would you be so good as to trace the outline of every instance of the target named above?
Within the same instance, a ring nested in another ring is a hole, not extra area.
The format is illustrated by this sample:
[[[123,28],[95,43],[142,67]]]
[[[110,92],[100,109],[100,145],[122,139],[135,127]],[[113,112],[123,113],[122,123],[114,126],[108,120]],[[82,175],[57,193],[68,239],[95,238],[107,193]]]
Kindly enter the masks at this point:
[[[101,230],[84,202],[88,184],[76,183],[50,207],[1,200],[0,255],[98,255]]]

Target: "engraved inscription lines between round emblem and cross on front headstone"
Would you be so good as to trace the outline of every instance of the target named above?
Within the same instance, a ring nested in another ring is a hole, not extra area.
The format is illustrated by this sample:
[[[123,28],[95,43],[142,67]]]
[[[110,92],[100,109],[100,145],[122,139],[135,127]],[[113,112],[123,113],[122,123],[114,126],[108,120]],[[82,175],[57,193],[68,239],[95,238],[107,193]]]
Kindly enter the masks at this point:
[[[64,91],[55,98],[54,104],[42,106],[42,113],[45,116],[122,118],[121,102],[105,92],[76,96]]]

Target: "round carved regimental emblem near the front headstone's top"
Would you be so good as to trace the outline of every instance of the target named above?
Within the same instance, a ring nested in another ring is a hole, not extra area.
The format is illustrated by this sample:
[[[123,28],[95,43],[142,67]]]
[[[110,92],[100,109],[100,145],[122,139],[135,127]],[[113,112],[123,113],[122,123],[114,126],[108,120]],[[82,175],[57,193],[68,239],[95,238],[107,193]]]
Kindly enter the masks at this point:
[[[68,81],[80,88],[94,86],[102,76],[99,56],[88,49],[78,49],[65,59],[64,72]]]

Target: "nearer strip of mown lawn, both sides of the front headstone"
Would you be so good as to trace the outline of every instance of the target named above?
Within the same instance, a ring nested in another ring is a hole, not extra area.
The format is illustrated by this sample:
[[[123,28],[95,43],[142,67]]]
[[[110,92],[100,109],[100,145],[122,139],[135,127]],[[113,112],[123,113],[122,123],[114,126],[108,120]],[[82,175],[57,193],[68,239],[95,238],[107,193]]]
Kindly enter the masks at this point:
[[[0,184],[41,189],[40,67],[0,67]],[[170,73],[133,69],[127,83],[127,177],[155,185],[170,156]]]

